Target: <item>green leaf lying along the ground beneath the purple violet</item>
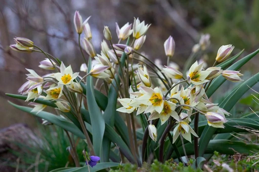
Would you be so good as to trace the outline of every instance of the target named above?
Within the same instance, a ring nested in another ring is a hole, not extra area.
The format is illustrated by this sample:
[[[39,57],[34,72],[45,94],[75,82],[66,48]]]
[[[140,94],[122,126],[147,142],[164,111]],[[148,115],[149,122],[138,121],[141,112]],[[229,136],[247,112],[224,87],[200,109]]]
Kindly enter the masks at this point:
[[[99,171],[99,170],[104,170],[106,168],[114,168],[114,167],[118,167],[120,163],[116,163],[116,162],[103,162],[103,163],[97,163],[96,166],[90,167],[90,171]],[[123,166],[123,164],[121,164]],[[71,171],[75,171],[75,172],[86,172],[88,171],[88,167],[84,166],[84,167],[75,167],[75,168],[70,168],[67,170],[60,170],[60,171],[54,171],[54,172],[71,172]]]

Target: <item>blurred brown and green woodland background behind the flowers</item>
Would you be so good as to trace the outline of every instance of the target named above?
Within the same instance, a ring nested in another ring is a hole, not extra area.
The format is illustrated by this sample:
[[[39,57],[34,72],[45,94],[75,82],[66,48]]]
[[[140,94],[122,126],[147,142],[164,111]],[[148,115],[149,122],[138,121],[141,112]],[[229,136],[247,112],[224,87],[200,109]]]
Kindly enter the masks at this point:
[[[172,35],[176,42],[172,61],[183,67],[200,34],[211,35],[211,45],[204,61],[214,63],[221,45],[233,44],[232,54],[245,49],[241,57],[259,48],[259,1],[258,0],[0,0],[0,128],[14,123],[35,126],[35,119],[11,105],[26,103],[5,96],[17,94],[18,88],[26,81],[25,68],[46,74],[38,65],[45,57],[40,53],[18,53],[11,51],[13,37],[26,37],[36,45],[59,57],[73,70],[79,71],[83,62],[73,25],[75,10],[83,20],[92,16],[89,24],[93,44],[99,52],[103,39],[103,27],[109,26],[113,42],[117,42],[115,22],[123,26],[133,23],[133,17],[151,23],[142,51],[152,60],[161,59],[165,64],[163,43]],[[240,58],[241,58],[240,57]],[[258,72],[258,56],[241,69],[248,78]],[[225,83],[220,94],[225,94],[233,84]],[[247,108],[247,107],[246,107]],[[242,111],[242,110],[241,110]]]

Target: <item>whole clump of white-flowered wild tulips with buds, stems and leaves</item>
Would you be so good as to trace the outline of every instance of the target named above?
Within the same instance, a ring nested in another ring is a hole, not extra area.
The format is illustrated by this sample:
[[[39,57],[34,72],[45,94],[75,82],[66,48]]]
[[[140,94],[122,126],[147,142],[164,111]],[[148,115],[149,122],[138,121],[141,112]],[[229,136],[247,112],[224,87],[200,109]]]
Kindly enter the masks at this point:
[[[215,63],[205,67],[203,62],[196,61],[210,44],[210,36],[202,35],[181,70],[175,62],[182,59],[173,56],[172,36],[164,42],[165,55],[159,59],[167,59],[164,66],[159,60],[153,62],[140,53],[150,24],[145,25],[138,18],[121,28],[116,23],[117,37],[105,26],[106,40],[101,42],[101,52],[97,54],[89,18],[82,22],[79,12],[75,12],[74,25],[85,62],[80,67],[81,73],[28,38],[14,38],[16,44],[10,45],[15,51],[43,54],[46,59],[39,67],[47,72],[40,76],[26,69],[29,74],[18,90],[21,95],[7,94],[30,102],[34,108],[10,104],[87,142],[89,151],[82,148],[83,155],[76,153],[75,144],[70,145],[76,168],[66,171],[100,170],[118,164],[123,166],[125,162],[138,167],[147,162],[153,169],[189,169],[191,167],[183,166],[191,161],[190,157],[195,160],[192,167],[195,171],[202,168],[200,164],[209,160],[215,150],[233,155],[234,150],[247,154],[259,149],[258,145],[233,141],[229,137],[232,132],[249,132],[236,125],[259,128],[251,121],[254,114],[231,118],[229,113],[259,79],[257,73],[243,81],[238,71],[259,49],[234,63],[243,51],[229,58],[234,46],[223,45],[214,53]],[[89,56],[88,61],[84,51]],[[243,82],[222,102],[214,102],[210,97],[225,81]],[[44,111],[47,106],[59,113]],[[85,167],[80,167],[79,156],[84,156]],[[169,161],[162,164],[166,160],[170,160],[170,167]]]

